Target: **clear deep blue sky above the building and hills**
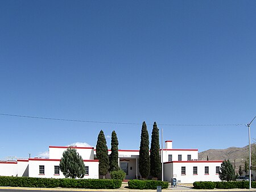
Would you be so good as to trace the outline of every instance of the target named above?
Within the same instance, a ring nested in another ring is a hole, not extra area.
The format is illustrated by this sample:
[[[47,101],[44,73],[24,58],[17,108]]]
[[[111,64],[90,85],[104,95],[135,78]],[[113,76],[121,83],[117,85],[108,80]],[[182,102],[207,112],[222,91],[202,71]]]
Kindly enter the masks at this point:
[[[256,1],[0,1],[0,159],[48,145],[138,149],[141,124],[256,115]],[[158,126],[174,148],[248,144],[242,126]],[[256,137],[256,121],[251,138]]]

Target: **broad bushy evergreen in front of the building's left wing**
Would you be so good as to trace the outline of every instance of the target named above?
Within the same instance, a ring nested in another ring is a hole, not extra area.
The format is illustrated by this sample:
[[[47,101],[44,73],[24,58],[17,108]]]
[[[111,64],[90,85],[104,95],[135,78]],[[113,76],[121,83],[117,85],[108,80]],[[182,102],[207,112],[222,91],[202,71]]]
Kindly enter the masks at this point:
[[[68,148],[63,152],[60,159],[60,170],[65,178],[83,178],[85,174],[85,165],[82,157],[74,148]]]

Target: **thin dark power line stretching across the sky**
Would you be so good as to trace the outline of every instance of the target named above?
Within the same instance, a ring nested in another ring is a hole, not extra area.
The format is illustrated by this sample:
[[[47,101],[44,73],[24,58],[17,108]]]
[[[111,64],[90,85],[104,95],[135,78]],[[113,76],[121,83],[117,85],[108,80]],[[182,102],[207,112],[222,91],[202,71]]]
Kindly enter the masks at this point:
[[[123,123],[123,122],[100,122],[94,120],[79,120],[79,119],[59,119],[59,118],[44,118],[41,116],[27,116],[27,115],[14,115],[14,114],[0,114],[3,116],[14,116],[20,118],[33,118],[33,119],[46,119],[46,120],[61,120],[67,122],[85,122],[85,123],[104,123],[104,124],[130,124],[141,125],[141,123]],[[148,124],[152,125],[152,124]],[[158,124],[158,126],[243,126],[244,124]]]

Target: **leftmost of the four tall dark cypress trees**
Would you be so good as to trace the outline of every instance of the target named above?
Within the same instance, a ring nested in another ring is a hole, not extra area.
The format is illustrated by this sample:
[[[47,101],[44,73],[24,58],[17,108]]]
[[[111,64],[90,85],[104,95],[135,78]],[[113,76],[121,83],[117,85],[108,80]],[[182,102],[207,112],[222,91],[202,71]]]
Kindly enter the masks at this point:
[[[105,178],[105,175],[108,173],[109,170],[109,157],[108,147],[106,145],[106,138],[102,130],[98,134],[96,156],[98,158],[98,173],[102,175],[103,178]]]

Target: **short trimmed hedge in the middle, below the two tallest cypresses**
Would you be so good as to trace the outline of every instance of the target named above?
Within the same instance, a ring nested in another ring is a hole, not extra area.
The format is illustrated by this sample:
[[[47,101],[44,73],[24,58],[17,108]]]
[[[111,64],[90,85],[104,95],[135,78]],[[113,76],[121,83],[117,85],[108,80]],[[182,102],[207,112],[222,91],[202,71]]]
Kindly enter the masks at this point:
[[[167,189],[169,183],[167,181],[154,180],[130,180],[128,181],[129,189],[156,189],[157,186],[162,186],[162,189]]]

